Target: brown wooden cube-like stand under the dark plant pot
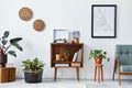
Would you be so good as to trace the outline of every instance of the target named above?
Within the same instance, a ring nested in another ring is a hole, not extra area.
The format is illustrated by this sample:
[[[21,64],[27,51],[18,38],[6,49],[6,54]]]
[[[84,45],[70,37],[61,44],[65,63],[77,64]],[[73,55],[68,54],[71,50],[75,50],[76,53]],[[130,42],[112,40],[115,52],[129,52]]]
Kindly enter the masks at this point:
[[[14,67],[0,68],[0,82],[8,82],[14,80],[15,80]]]

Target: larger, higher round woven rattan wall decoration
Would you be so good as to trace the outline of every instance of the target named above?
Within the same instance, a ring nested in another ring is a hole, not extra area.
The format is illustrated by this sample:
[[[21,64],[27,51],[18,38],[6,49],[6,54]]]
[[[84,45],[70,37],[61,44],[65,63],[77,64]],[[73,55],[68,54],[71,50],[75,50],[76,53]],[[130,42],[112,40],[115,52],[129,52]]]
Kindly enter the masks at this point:
[[[24,8],[20,9],[19,16],[21,20],[29,21],[33,16],[33,11],[28,7],[24,7]]]

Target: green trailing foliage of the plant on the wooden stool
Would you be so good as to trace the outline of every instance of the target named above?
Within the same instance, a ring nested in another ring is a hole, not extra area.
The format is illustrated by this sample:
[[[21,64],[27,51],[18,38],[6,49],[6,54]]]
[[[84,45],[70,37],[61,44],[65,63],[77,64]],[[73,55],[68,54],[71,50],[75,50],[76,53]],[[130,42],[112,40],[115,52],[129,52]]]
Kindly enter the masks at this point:
[[[88,56],[88,59],[91,59],[92,57],[96,57],[97,59],[100,59],[100,57],[102,58],[107,58],[107,52],[102,51],[102,50],[94,50],[90,51],[90,54]],[[107,61],[109,62],[110,58],[107,58]]]

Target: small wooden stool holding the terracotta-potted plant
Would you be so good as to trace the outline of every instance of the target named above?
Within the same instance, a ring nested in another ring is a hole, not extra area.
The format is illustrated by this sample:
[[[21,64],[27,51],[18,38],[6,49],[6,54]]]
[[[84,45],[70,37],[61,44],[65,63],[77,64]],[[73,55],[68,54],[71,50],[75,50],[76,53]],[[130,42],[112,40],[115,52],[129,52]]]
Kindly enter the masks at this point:
[[[100,82],[100,74],[101,74],[101,81],[103,81],[103,68],[102,64],[95,64],[95,81],[98,79],[98,82]],[[100,72],[101,70],[101,72]],[[98,77],[97,77],[98,75]]]

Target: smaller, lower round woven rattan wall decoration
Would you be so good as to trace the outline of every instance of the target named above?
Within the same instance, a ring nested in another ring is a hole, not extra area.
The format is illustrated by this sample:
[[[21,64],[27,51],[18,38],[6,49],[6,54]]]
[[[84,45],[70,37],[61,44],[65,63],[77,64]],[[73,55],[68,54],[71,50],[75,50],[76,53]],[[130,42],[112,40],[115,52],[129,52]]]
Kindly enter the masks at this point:
[[[44,28],[45,28],[45,23],[44,23],[43,20],[37,19],[37,20],[34,21],[33,28],[34,28],[35,31],[43,31]]]

